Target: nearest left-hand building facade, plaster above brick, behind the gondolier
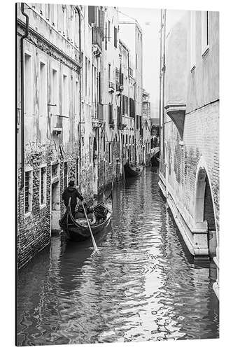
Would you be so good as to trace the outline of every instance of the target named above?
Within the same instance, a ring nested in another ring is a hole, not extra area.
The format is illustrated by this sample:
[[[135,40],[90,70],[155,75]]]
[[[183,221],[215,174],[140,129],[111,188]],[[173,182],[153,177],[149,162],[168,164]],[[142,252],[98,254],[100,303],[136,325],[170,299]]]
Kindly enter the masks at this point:
[[[79,26],[79,6],[17,3],[19,267],[50,242],[62,191],[78,183]]]

